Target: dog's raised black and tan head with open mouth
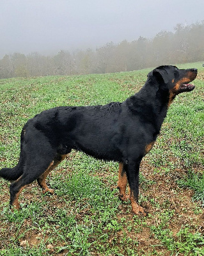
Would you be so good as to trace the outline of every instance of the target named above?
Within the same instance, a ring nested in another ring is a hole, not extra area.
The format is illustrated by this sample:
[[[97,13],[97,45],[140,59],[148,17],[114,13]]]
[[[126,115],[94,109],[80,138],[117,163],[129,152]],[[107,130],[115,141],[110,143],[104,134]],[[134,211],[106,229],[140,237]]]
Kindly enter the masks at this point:
[[[152,76],[162,88],[169,90],[173,96],[182,92],[191,92],[195,86],[191,82],[196,78],[197,68],[179,69],[175,66],[161,66],[152,71]]]

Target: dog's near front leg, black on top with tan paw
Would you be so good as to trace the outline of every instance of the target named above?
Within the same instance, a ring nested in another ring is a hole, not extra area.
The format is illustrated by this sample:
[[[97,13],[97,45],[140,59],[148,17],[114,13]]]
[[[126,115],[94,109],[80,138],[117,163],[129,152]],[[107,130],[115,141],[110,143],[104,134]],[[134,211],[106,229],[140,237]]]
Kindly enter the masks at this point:
[[[132,211],[135,214],[146,215],[145,210],[138,204],[139,195],[139,164],[141,161],[128,161],[124,165],[127,173],[127,180],[130,186],[130,202],[132,205]]]

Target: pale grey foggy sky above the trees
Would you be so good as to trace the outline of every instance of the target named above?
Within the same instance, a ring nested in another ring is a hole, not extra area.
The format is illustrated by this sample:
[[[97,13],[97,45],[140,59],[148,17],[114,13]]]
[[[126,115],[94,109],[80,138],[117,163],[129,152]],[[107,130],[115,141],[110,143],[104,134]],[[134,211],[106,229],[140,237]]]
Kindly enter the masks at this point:
[[[0,0],[0,58],[96,49],[201,20],[204,0]]]

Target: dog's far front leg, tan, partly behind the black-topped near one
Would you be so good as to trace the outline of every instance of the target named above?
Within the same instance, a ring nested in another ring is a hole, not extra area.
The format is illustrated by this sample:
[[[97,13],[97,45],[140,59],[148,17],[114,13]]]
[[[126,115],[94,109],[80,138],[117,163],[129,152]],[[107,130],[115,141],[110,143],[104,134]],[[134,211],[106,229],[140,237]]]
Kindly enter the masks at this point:
[[[119,197],[122,201],[127,200],[128,196],[126,196],[126,186],[127,186],[127,175],[123,171],[123,163],[119,163],[119,172],[118,172],[118,189],[119,189]]]

